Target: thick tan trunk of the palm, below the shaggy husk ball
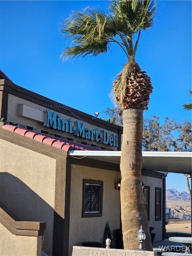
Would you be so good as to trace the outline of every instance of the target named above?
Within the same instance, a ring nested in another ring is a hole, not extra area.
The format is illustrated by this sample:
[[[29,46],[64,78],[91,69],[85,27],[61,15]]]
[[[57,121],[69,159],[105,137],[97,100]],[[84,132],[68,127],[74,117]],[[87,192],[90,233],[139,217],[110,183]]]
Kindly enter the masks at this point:
[[[124,249],[138,250],[137,232],[142,224],[146,232],[144,250],[152,251],[144,194],[142,190],[142,132],[143,110],[123,112],[123,141],[121,153],[121,220]]]

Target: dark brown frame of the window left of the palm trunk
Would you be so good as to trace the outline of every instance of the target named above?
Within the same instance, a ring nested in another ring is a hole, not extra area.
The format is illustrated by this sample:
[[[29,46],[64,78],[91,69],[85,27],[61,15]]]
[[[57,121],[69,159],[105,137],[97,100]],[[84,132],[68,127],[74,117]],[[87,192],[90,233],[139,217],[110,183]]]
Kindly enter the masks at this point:
[[[86,184],[100,185],[100,212],[85,212]],[[103,212],[103,181],[83,179],[82,218],[102,217]]]

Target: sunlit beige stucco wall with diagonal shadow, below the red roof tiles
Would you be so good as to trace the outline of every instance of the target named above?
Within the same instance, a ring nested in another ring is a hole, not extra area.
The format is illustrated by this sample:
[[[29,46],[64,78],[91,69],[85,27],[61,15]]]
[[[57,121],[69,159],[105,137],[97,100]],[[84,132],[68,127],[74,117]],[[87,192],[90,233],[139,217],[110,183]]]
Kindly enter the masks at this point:
[[[21,220],[46,222],[43,250],[52,254],[56,160],[0,140],[0,200]]]

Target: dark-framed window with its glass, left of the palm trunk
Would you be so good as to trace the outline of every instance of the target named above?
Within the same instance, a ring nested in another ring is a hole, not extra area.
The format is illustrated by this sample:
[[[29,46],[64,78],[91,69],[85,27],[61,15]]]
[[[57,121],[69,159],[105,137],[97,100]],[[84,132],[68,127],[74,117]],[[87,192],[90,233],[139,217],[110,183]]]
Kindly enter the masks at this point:
[[[101,180],[83,180],[82,217],[101,217],[103,182]]]

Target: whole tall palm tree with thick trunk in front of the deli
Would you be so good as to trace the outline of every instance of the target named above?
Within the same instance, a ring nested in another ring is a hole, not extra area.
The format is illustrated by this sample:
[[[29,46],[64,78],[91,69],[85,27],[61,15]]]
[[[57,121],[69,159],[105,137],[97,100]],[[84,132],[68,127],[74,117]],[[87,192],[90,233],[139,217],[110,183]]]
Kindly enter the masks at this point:
[[[141,181],[143,110],[148,109],[152,85],[135,55],[141,31],[153,26],[155,12],[150,0],[113,0],[108,13],[92,8],[74,12],[61,29],[66,38],[72,38],[71,46],[62,53],[64,58],[97,56],[107,52],[111,43],[118,44],[127,56],[113,84],[114,98],[120,114],[123,112],[120,198],[124,249],[138,249],[137,232],[142,224],[144,249],[152,250]]]

